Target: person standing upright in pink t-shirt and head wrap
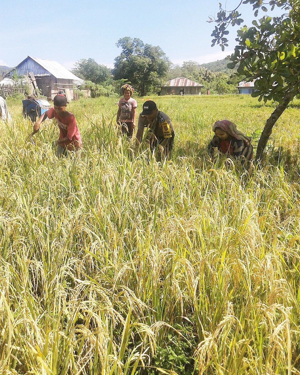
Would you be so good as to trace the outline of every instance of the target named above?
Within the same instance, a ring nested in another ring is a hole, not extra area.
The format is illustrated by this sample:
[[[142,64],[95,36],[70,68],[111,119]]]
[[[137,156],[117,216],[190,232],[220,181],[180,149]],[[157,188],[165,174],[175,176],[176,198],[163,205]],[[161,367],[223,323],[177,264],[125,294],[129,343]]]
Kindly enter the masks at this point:
[[[118,102],[117,124],[120,124],[122,133],[132,138],[135,129],[136,100],[132,98],[133,87],[125,84],[121,87],[123,98]]]

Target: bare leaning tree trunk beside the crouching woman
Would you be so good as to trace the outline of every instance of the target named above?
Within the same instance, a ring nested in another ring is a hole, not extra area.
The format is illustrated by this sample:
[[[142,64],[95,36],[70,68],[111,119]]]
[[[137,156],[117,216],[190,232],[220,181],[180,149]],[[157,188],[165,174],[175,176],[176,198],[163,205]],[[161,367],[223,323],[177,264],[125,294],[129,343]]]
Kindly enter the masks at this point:
[[[266,148],[267,142],[269,141],[270,135],[272,133],[273,126],[275,125],[278,118],[282,115],[285,108],[287,108],[290,101],[294,98],[295,94],[288,92],[286,93],[282,103],[278,104],[273,113],[266,121],[266,125],[261,133],[260,140],[258,141],[257,151],[256,151],[256,160],[261,161],[263,158],[263,153]]]

